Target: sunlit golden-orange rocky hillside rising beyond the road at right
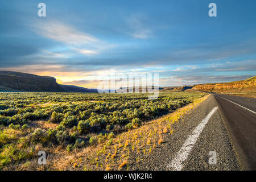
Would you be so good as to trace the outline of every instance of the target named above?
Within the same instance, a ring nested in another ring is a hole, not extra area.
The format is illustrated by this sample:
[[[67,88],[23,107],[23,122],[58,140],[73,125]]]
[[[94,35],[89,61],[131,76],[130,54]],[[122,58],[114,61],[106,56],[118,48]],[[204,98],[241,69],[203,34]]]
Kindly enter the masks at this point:
[[[256,76],[241,81],[200,84],[192,89],[214,93],[256,93]]]

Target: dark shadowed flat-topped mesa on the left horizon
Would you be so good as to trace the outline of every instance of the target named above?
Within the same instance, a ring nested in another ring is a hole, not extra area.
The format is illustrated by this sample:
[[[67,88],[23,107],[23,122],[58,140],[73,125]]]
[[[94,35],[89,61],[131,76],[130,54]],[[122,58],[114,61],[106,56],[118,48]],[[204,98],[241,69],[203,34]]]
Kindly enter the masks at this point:
[[[49,76],[38,76],[12,71],[0,71],[0,92],[97,93],[97,89],[87,89],[73,85],[59,85],[54,77]]]

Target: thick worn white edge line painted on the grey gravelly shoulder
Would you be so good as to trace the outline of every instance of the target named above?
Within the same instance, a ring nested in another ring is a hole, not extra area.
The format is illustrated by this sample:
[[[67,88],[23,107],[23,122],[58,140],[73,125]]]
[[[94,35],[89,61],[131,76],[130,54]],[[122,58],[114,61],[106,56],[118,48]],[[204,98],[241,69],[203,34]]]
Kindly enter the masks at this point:
[[[170,164],[168,164],[167,169],[172,169],[175,171],[181,171],[183,168],[182,163],[184,160],[187,160],[189,153],[191,152],[193,145],[196,143],[197,138],[200,133],[203,131],[204,126],[209,121],[210,117],[212,117],[213,113],[218,109],[218,107],[214,107],[212,111],[203,119],[203,121],[196,127],[191,135],[185,140],[185,143],[180,148],[179,152],[177,152],[175,158],[172,160]]]

